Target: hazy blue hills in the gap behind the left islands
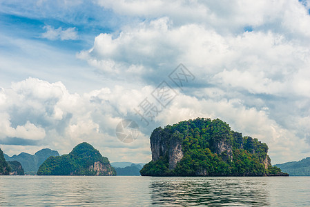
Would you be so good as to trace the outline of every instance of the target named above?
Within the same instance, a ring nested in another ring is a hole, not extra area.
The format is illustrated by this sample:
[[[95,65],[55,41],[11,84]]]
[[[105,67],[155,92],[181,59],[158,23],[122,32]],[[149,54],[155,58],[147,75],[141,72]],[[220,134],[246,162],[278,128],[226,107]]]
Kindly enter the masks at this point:
[[[13,155],[12,157],[4,154],[6,161],[19,161],[23,166],[24,174],[26,175],[37,175],[39,166],[43,164],[50,156],[59,156],[56,150],[50,150],[48,148],[39,150],[35,155],[30,155],[26,152],[21,152],[19,155]]]

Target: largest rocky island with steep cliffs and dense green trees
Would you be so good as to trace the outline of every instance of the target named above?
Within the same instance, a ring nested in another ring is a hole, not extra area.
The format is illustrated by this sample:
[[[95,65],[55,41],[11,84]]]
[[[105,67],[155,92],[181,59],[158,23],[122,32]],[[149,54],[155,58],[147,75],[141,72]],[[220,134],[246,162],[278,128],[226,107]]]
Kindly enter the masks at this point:
[[[288,176],[271,166],[267,144],[242,137],[220,119],[197,118],[151,134],[147,176]]]

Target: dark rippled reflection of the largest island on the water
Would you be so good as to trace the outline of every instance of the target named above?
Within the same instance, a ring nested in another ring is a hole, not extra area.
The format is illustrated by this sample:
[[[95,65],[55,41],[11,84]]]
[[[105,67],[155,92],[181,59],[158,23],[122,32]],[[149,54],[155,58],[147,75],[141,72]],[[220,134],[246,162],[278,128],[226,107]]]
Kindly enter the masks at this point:
[[[270,206],[266,179],[253,177],[155,178],[152,204]]]

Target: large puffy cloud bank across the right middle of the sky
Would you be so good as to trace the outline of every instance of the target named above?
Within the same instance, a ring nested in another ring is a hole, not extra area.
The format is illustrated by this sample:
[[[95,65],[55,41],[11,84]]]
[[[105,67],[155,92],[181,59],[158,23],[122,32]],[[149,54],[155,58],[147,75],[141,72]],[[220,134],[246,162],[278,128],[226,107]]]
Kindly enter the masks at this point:
[[[300,93],[298,85],[306,84],[296,85],[294,79],[300,73],[309,77],[308,45],[271,31],[223,36],[204,25],[173,26],[163,17],[124,28],[114,38],[99,34],[93,48],[78,57],[110,75],[153,79],[182,62],[200,77],[215,76],[211,83],[222,81],[249,92]]]

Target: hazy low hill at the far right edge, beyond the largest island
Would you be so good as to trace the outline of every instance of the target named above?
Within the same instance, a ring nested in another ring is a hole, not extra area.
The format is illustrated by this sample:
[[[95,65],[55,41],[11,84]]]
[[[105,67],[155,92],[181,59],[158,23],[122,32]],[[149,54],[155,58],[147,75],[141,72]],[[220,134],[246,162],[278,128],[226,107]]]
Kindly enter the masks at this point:
[[[274,165],[293,176],[310,176],[310,157]]]

